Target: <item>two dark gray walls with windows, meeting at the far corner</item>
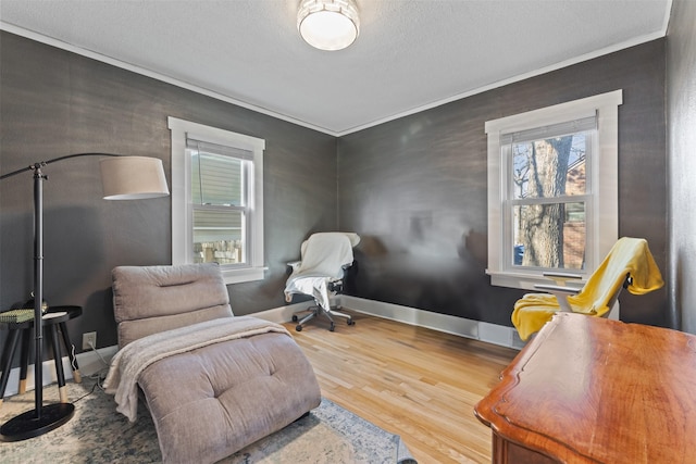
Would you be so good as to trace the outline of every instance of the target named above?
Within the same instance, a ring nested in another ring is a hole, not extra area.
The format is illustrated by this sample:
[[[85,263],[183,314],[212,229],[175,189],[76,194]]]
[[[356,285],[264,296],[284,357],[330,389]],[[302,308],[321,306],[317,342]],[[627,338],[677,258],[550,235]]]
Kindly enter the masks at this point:
[[[269,272],[261,283],[229,287],[237,314],[282,305],[285,262],[297,258],[301,240],[340,228],[363,237],[356,294],[509,325],[522,292],[492,287],[484,272],[484,123],[619,88],[620,234],[646,237],[666,269],[664,40],[338,141],[9,33],[0,34],[0,59],[2,173],[83,151],[156,155],[169,173],[170,115],[266,140]],[[100,347],[115,344],[110,269],[170,262],[170,200],[101,200],[96,159],[46,172],[46,297],[50,304],[84,306],[83,317],[70,323],[77,346],[92,330]],[[0,186],[3,309],[32,288],[30,185],[27,174]],[[624,293],[621,301],[623,319],[666,324],[666,291]]]

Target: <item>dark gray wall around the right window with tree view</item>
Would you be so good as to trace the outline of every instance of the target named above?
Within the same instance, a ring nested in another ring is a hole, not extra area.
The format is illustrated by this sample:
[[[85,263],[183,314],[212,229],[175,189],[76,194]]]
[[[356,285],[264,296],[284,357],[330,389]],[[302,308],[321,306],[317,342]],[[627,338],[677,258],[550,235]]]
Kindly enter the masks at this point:
[[[362,236],[356,294],[511,325],[523,292],[485,274],[484,124],[617,89],[619,234],[645,237],[664,272],[664,73],[660,39],[341,137],[338,221]],[[664,289],[620,301],[623,321],[667,324]]]

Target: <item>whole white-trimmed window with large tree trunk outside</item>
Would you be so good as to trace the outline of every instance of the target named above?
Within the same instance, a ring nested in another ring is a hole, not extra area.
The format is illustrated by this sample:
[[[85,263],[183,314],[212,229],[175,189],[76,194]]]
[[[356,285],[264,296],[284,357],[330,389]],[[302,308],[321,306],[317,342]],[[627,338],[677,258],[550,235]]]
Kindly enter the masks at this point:
[[[493,285],[588,276],[618,238],[622,91],[486,122]]]

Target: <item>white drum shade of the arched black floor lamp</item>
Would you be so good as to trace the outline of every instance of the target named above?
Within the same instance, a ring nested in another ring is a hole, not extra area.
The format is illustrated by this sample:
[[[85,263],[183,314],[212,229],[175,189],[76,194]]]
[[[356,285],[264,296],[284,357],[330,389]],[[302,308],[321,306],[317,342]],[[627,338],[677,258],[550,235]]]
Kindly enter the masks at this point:
[[[104,200],[138,200],[170,195],[162,160],[112,156],[100,160]]]

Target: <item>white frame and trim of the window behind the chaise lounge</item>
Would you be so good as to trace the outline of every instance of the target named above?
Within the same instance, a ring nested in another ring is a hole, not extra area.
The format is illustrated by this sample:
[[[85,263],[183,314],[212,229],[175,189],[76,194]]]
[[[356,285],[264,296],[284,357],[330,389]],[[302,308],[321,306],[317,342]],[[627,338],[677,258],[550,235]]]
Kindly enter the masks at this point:
[[[192,123],[176,117],[167,118],[172,137],[172,264],[192,263],[194,224],[191,203],[191,163],[186,150],[186,139],[240,150],[253,153],[253,174],[250,178],[249,199],[251,217],[250,234],[248,236],[249,262],[246,266],[221,266],[225,284],[239,284],[261,280],[264,277],[263,258],[263,151],[265,140],[236,134],[203,124]]]

